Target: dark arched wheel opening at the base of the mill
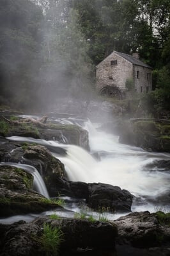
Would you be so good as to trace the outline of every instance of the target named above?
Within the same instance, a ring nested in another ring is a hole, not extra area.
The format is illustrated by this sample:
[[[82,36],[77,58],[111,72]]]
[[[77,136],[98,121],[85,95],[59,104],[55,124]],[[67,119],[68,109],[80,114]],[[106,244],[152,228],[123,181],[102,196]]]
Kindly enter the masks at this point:
[[[100,89],[99,93],[102,96],[113,97],[116,99],[125,98],[125,93],[122,92],[117,86],[106,85],[105,87],[102,87],[102,89]]]

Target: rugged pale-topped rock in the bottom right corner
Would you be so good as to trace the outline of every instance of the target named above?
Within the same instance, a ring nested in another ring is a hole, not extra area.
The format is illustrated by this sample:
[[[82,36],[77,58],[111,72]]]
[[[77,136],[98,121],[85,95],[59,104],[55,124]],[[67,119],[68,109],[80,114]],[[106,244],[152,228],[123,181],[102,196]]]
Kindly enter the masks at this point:
[[[114,223],[118,226],[118,244],[150,248],[169,243],[169,225],[160,225],[157,214],[132,212]]]

